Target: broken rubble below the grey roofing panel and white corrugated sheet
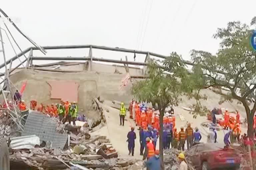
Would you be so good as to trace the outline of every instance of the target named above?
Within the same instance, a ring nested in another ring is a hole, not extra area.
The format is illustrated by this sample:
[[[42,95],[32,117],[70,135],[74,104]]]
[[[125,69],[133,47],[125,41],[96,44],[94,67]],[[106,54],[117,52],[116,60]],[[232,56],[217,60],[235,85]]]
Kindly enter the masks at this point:
[[[10,149],[10,164],[19,169],[56,170],[79,165],[84,169],[129,169],[135,163],[133,160],[117,158],[118,154],[106,136],[93,136],[90,139],[84,136],[88,135],[70,135],[70,146],[65,146],[63,150],[47,146]],[[76,140],[81,143],[73,142]]]

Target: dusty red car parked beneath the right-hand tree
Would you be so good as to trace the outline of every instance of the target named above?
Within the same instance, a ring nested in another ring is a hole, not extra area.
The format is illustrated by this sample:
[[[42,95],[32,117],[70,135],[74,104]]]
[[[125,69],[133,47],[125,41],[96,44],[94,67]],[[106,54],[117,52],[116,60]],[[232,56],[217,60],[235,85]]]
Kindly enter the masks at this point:
[[[186,155],[198,170],[239,169],[241,157],[234,149],[224,148],[224,146],[219,143],[199,143],[192,146]]]

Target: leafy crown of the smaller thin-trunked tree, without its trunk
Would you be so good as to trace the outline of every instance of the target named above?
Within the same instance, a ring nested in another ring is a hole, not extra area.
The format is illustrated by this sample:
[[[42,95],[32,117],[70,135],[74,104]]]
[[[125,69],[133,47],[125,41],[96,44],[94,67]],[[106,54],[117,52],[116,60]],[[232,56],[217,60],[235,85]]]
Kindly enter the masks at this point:
[[[176,73],[181,74],[181,67],[181,65],[176,65],[173,70],[177,70]],[[180,96],[183,90],[176,74],[165,74],[157,62],[152,60],[147,67],[147,75],[149,78],[133,85],[132,94],[135,98],[139,101],[155,103],[162,111],[169,105],[177,106],[181,101]]]

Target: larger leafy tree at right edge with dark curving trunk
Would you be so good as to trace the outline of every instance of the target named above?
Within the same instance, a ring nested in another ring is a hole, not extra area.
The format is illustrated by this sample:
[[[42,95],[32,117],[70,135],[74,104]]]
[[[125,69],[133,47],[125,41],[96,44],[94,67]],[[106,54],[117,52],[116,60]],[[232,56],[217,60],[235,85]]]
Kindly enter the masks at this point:
[[[256,17],[251,25],[229,22],[214,34],[220,49],[213,55],[206,51],[192,50],[192,75],[200,81],[198,89],[214,87],[229,89],[221,102],[237,99],[246,111],[248,135],[253,136],[253,116],[256,111],[256,51],[250,44]]]

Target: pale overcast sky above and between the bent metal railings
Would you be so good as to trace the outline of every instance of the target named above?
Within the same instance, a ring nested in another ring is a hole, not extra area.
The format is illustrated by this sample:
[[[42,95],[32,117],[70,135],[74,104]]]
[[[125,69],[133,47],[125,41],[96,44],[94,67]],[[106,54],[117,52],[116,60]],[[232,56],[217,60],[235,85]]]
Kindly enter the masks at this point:
[[[186,60],[190,59],[192,49],[216,53],[219,42],[212,35],[217,28],[226,27],[230,21],[249,24],[256,15],[255,7],[255,0],[1,1],[1,9],[42,46],[95,44],[163,55],[176,51]],[[8,26],[22,50],[32,46]],[[4,42],[7,59],[13,57],[15,53],[5,35]],[[88,49],[48,50],[47,55],[88,56],[88,53]],[[35,55],[43,56],[39,52]],[[93,50],[94,57],[124,59],[125,55],[133,59],[133,54]],[[136,61],[144,59],[144,55],[138,55]]]

